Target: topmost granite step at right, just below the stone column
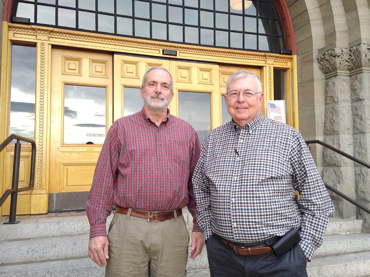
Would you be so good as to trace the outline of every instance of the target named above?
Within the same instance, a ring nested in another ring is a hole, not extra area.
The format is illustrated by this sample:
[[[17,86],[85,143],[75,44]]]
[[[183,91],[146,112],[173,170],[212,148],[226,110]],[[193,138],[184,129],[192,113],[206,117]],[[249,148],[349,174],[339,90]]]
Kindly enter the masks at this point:
[[[325,235],[361,233],[361,219],[329,218]]]

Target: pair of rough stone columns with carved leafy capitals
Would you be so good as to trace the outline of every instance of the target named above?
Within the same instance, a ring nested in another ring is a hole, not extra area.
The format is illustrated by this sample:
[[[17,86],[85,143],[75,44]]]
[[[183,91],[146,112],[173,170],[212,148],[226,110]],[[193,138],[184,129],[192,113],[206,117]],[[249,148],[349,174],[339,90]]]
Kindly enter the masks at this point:
[[[370,163],[370,45],[336,47],[317,56],[326,78],[324,141]],[[370,208],[370,169],[324,150],[323,180]],[[370,215],[335,194],[336,216],[364,219]]]

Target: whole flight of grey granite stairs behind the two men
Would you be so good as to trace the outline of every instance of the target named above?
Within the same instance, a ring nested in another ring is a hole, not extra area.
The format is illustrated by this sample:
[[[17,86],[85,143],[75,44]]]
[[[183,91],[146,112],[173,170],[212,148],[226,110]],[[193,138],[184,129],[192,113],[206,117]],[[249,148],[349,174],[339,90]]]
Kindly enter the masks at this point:
[[[185,209],[184,218],[191,232]],[[370,234],[361,228],[362,220],[330,218],[323,244],[307,264],[309,277],[370,277]],[[87,255],[88,230],[85,215],[0,222],[0,277],[104,276]],[[188,259],[187,271],[188,277],[210,276],[206,248]]]

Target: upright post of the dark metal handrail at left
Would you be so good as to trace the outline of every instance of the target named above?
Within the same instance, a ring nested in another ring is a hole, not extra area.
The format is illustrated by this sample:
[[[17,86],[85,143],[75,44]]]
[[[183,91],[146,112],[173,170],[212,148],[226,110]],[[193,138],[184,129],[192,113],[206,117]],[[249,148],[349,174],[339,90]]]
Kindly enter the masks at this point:
[[[21,144],[17,139],[17,143],[14,144],[13,178],[11,183],[12,193],[10,196],[9,221],[4,222],[4,224],[17,224],[20,222],[19,220],[16,220],[20,157]]]

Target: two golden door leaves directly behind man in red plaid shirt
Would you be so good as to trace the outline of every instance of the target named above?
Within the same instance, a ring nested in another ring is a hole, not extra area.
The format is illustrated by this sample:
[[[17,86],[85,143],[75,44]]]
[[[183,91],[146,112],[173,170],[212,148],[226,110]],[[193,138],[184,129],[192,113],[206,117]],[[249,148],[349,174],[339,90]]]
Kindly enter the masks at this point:
[[[114,119],[138,112],[142,77],[151,66],[163,66],[174,79],[171,114],[198,131],[201,141],[221,123],[218,65],[125,55],[114,56]]]

